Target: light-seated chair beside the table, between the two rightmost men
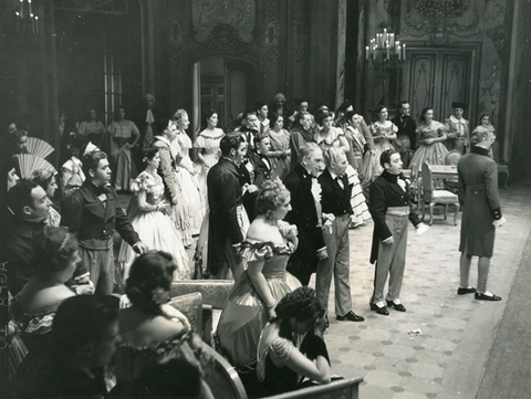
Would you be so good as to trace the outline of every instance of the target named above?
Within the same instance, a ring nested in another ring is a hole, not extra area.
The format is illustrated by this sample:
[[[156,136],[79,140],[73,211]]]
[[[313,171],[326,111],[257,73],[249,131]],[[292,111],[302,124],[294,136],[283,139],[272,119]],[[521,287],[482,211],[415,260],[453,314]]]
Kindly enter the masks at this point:
[[[420,187],[420,208],[423,210],[423,221],[426,213],[426,204],[429,204],[429,225],[434,222],[434,208],[436,204],[445,206],[445,220],[447,219],[448,206],[454,204],[454,225],[457,225],[457,214],[459,213],[459,199],[457,195],[448,190],[437,190],[434,187],[434,178],[428,162],[423,164],[421,175],[418,186]]]

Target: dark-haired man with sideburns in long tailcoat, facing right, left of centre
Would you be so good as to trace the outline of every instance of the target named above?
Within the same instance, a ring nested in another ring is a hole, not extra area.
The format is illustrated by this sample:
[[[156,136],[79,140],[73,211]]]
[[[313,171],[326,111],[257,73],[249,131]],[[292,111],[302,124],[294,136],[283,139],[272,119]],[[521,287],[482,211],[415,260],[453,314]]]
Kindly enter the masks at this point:
[[[237,280],[243,264],[232,245],[242,242],[249,229],[238,170],[247,154],[247,143],[241,134],[230,134],[221,139],[219,147],[221,158],[207,176],[210,207],[207,273],[212,279],[228,280],[232,275]]]

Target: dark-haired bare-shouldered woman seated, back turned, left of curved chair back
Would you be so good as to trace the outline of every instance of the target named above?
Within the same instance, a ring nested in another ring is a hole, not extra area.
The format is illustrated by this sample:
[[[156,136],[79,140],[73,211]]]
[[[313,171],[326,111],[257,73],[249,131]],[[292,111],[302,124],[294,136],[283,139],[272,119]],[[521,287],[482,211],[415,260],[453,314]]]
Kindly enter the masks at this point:
[[[131,397],[132,387],[145,370],[170,359],[188,361],[201,376],[209,365],[201,338],[190,330],[186,316],[167,304],[175,270],[171,255],[163,251],[147,252],[131,266],[125,286],[131,307],[118,315],[114,397]],[[212,397],[202,379],[201,390],[201,398]]]

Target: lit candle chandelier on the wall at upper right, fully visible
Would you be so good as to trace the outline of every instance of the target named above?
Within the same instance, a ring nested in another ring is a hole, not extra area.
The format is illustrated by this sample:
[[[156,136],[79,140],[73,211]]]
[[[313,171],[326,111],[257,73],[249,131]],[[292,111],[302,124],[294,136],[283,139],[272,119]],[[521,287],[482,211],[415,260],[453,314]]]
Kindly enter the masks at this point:
[[[394,33],[376,33],[376,38],[365,46],[365,60],[369,61],[376,70],[400,67],[406,61],[406,44],[395,40]]]

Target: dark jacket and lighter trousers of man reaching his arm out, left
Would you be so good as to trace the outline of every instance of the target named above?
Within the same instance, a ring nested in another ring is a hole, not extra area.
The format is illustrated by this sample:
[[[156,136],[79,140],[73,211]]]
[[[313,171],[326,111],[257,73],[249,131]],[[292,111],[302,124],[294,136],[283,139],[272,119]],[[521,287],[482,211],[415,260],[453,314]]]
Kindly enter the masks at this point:
[[[100,189],[86,179],[81,188],[63,204],[61,224],[66,225],[80,240],[80,256],[88,269],[97,294],[112,294],[114,286],[114,230],[129,245],[140,239],[129,223],[118,201],[116,190],[106,186],[106,200],[98,199]]]

